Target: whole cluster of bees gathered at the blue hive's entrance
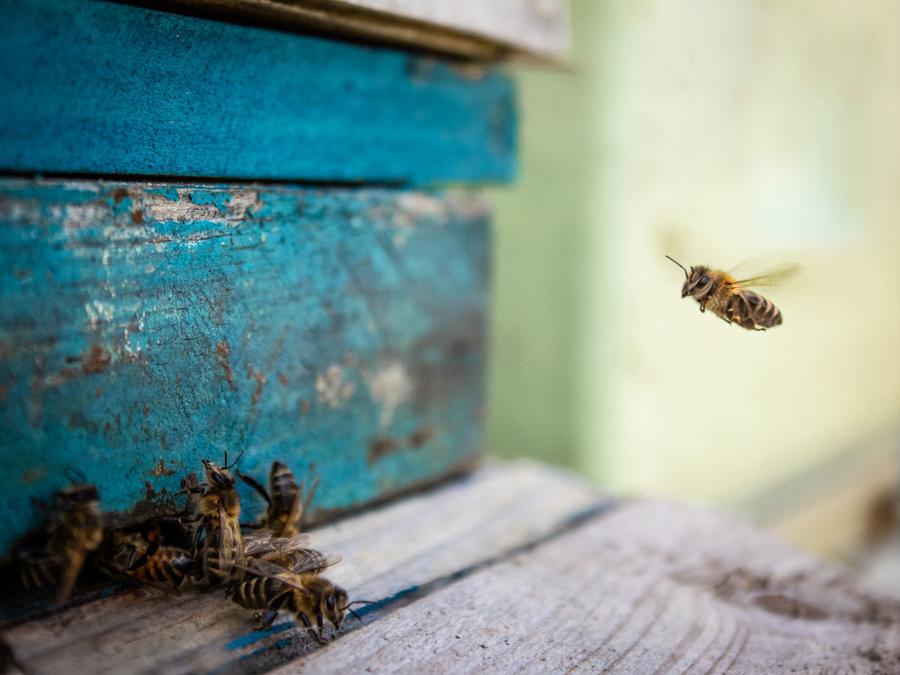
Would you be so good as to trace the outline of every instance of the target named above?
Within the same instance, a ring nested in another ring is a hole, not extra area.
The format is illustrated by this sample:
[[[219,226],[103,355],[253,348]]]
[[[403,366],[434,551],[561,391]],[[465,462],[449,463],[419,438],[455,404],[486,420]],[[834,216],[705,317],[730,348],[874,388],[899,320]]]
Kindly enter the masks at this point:
[[[52,504],[38,504],[47,514],[40,535],[17,551],[23,585],[55,586],[56,601],[63,603],[88,561],[112,578],[176,593],[185,580],[204,590],[228,584],[227,598],[257,610],[257,630],[284,610],[324,644],[325,622],[337,630],[348,612],[358,618],[351,605],[367,601],[351,603],[346,590],[321,575],[340,556],[310,548],[310,536],[301,531],[316,484],[304,500],[303,482],[298,485],[285,464],[274,462],[266,491],[250,476],[231,472],[238,460],[229,465],[226,455],[223,466],[203,460],[204,481],[194,476],[177,493],[188,495],[184,511],[138,527],[106,530],[94,485],[74,482],[58,491]],[[235,473],[266,500],[257,524],[240,522]]]

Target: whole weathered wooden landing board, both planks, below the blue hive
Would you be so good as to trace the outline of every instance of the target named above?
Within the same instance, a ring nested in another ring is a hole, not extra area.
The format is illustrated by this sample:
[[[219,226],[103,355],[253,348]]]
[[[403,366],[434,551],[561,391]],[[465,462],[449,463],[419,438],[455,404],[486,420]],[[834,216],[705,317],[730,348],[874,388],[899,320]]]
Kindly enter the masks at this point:
[[[372,599],[318,648],[248,632],[220,591],[135,590],[6,630],[34,672],[855,673],[900,671],[900,602],[697,509],[616,503],[530,464],[491,467],[312,533]]]

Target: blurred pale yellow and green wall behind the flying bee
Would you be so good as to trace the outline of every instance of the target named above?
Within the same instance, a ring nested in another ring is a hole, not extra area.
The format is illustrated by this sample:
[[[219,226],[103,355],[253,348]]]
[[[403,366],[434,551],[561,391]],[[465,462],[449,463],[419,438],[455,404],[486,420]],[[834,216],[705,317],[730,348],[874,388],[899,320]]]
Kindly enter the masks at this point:
[[[520,76],[521,177],[496,195],[491,447],[742,508],[835,457],[896,458],[900,3],[572,18],[571,72]],[[784,325],[751,332],[681,300],[666,254],[804,270],[763,292]]]

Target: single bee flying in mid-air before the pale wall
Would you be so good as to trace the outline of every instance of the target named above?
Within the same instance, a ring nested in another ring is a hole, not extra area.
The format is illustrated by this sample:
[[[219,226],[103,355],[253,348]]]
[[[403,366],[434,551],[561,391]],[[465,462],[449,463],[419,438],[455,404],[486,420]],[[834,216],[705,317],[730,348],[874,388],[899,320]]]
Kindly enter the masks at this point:
[[[748,330],[765,330],[781,325],[781,311],[770,300],[754,293],[745,286],[776,284],[795,275],[796,265],[781,266],[748,279],[735,279],[722,270],[707,266],[685,266],[671,256],[666,256],[684,270],[687,277],[681,287],[681,297],[689,295],[700,304],[700,311],[713,311],[726,323],[736,323]]]

